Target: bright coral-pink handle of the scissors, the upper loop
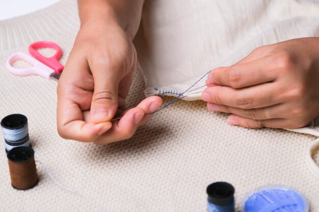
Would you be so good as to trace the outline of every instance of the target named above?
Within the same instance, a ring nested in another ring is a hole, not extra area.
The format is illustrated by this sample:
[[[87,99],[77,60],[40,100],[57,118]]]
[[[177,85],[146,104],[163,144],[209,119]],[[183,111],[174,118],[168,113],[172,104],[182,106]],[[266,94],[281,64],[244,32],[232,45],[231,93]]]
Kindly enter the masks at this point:
[[[40,54],[37,49],[39,48],[52,48],[56,50],[55,55],[51,57],[45,57],[42,54]],[[31,44],[29,46],[29,52],[32,56],[34,56],[37,60],[39,60],[41,63],[47,65],[51,69],[55,70],[57,74],[60,74],[60,72],[64,69],[63,65],[60,64],[59,59],[62,56],[62,50],[60,46],[54,42],[51,41],[39,41]]]

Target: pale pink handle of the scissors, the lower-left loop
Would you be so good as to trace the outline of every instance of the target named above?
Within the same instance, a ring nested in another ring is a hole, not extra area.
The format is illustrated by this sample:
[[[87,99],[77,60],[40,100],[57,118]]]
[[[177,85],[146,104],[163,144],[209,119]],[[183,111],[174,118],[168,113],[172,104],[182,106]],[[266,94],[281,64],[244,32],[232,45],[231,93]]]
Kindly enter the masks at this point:
[[[25,69],[18,69],[14,68],[12,64],[18,60],[24,60],[25,62],[28,62],[29,64],[32,65],[30,68],[25,68]],[[25,54],[23,52],[16,52],[9,56],[6,62],[7,69],[15,75],[20,75],[20,76],[28,76],[28,75],[40,75],[46,79],[49,79],[53,74],[55,74],[55,70],[45,66],[44,64],[40,63],[38,60],[33,58],[32,56]]]

